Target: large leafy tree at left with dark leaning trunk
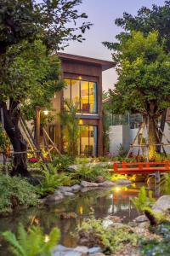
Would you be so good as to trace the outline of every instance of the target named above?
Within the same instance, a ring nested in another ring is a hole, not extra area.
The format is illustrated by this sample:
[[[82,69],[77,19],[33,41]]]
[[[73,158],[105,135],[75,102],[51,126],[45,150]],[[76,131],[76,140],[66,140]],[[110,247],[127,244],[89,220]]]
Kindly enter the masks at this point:
[[[59,60],[54,55],[70,40],[82,42],[91,24],[77,20],[81,0],[0,0],[0,108],[4,128],[14,148],[12,174],[29,176],[26,142],[19,128],[21,107],[48,103],[59,81]],[[9,102],[9,106],[7,105]],[[26,105],[27,104],[27,105]]]

